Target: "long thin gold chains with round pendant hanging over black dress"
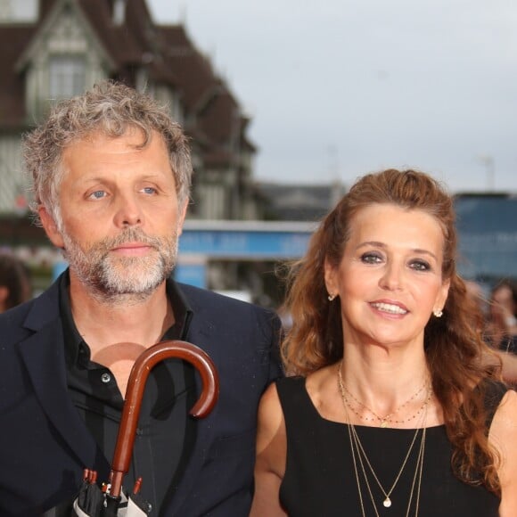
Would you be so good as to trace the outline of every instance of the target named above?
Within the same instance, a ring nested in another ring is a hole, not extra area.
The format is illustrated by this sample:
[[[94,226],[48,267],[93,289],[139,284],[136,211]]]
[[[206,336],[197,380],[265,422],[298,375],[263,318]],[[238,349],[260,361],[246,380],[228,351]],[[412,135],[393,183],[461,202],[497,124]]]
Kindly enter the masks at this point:
[[[416,488],[416,505],[415,505],[415,513],[414,513],[415,517],[417,517],[417,515],[418,515],[418,506],[420,504],[420,488],[421,488],[421,483],[422,483],[423,453],[424,453],[424,449],[425,449],[425,435],[426,435],[425,421],[427,420],[427,405],[429,403],[429,400],[431,400],[431,395],[428,396],[427,399],[426,399],[425,411],[424,411],[424,414],[423,414],[423,419],[422,419],[423,422],[421,423],[421,427],[417,427],[416,428],[416,431],[414,432],[414,437],[411,440],[411,444],[410,444],[409,449],[407,451],[407,454],[406,454],[406,456],[404,458],[404,461],[402,462],[402,465],[401,465],[401,467],[400,467],[400,469],[398,471],[397,477],[395,478],[395,481],[391,485],[390,490],[388,492],[386,492],[386,490],[382,487],[381,481],[379,480],[379,478],[377,477],[377,475],[373,471],[373,466],[370,463],[370,461],[368,460],[368,456],[365,453],[365,448],[361,444],[361,441],[360,441],[360,439],[359,439],[359,437],[357,435],[356,427],[354,426],[353,423],[351,423],[351,420],[349,418],[349,410],[348,410],[347,403],[346,403],[346,400],[345,400],[345,398],[346,398],[345,397],[345,389],[344,389],[344,384],[343,384],[343,380],[342,380],[342,376],[341,376],[341,365],[342,365],[342,361],[340,362],[340,365],[338,367],[338,388],[339,388],[339,390],[341,392],[341,399],[342,399],[342,403],[343,403],[343,408],[345,410],[345,414],[347,415],[347,420],[349,422],[350,449],[351,449],[351,454],[352,454],[352,461],[353,461],[353,464],[354,464],[354,472],[355,472],[355,475],[356,475],[357,492],[358,492],[358,495],[359,495],[359,503],[361,505],[361,511],[363,513],[363,517],[365,517],[365,506],[364,506],[364,502],[363,502],[363,494],[362,494],[362,491],[361,491],[361,484],[360,484],[359,473],[358,473],[358,469],[357,469],[357,460],[358,460],[358,462],[359,462],[359,464],[361,466],[361,471],[363,473],[363,478],[365,479],[366,488],[368,490],[368,495],[370,496],[370,500],[372,501],[373,510],[375,512],[376,517],[379,517],[379,512],[377,511],[377,506],[375,505],[375,501],[373,499],[373,493],[372,493],[372,489],[370,487],[370,482],[368,481],[368,477],[367,477],[366,472],[365,472],[365,464],[364,464],[364,461],[363,461],[363,457],[365,458],[365,462],[366,462],[370,472],[372,472],[373,479],[376,481],[376,483],[379,486],[379,488],[381,488],[382,494],[385,497],[384,501],[382,502],[382,505],[384,505],[384,507],[386,507],[386,508],[390,508],[390,506],[391,506],[390,495],[391,495],[392,491],[395,489],[395,487],[397,486],[398,480],[400,479],[400,476],[402,475],[402,472],[404,471],[404,468],[406,467],[406,463],[407,463],[407,460],[409,458],[409,455],[411,455],[411,451],[412,451],[412,449],[414,447],[414,442],[416,441],[416,437],[418,435],[418,432],[422,428],[422,439],[421,439],[421,443],[420,443],[419,452],[418,452],[418,455],[417,455],[417,458],[416,458],[414,477],[413,477],[413,482],[412,482],[412,485],[411,485],[411,492],[410,492],[410,495],[409,495],[409,501],[408,501],[408,504],[407,504],[407,511],[406,511],[406,517],[408,517],[409,516],[409,511],[411,509],[411,503],[413,501],[414,487],[415,487],[415,484],[416,484],[417,479],[418,479],[417,488]],[[357,457],[356,457],[356,455],[357,455]]]

